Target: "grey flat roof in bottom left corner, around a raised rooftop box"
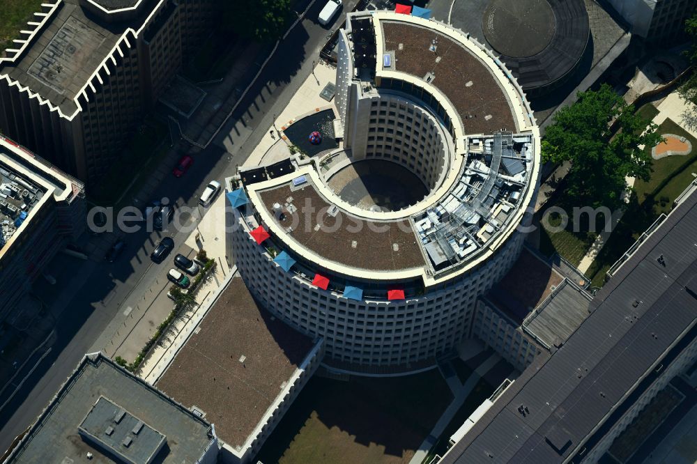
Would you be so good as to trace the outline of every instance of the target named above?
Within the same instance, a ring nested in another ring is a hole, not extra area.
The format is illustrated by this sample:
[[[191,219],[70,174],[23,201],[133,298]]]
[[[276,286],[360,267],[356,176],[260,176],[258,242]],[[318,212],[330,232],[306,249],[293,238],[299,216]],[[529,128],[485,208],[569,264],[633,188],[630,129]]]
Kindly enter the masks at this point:
[[[6,463],[77,463],[84,462],[88,452],[94,456],[91,463],[113,463],[113,458],[78,433],[93,406],[104,398],[167,437],[157,454],[162,463],[197,462],[208,447],[215,446],[208,422],[95,353],[82,359]]]

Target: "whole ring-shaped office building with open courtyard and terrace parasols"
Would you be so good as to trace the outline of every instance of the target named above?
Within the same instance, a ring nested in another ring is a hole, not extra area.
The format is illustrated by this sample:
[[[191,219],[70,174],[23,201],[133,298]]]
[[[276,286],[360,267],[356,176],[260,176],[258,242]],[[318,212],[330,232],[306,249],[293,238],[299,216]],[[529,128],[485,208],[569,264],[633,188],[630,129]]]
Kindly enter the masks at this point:
[[[519,256],[539,130],[491,52],[388,12],[348,15],[335,106],[339,149],[240,171],[229,248],[262,304],[323,337],[330,368],[425,369]]]

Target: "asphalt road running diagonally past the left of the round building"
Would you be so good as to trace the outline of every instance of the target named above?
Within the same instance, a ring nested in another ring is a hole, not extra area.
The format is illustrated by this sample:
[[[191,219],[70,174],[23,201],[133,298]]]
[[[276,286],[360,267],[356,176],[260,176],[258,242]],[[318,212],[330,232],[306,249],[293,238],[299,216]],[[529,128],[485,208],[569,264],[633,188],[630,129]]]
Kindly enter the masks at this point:
[[[344,10],[353,4],[355,1],[344,2]],[[154,198],[167,197],[179,206],[195,206],[209,180],[222,181],[236,172],[237,166],[243,164],[254,146],[259,144],[273,114],[279,114],[307,78],[312,61],[319,61],[319,50],[329,32],[316,23],[322,6],[323,1],[316,1],[307,15],[309,19],[298,24],[279,45],[245,101],[239,105],[227,127],[221,130],[217,141],[194,154],[195,162],[185,176],[179,179],[166,176]],[[342,21],[343,15],[333,26]],[[261,130],[255,132],[257,128]],[[128,303],[132,295],[152,288],[156,279],[162,279],[170,267],[169,260],[153,265],[148,257],[160,235],[142,230],[126,234],[127,248],[112,264],[80,263],[66,258],[63,272],[74,274],[72,279],[84,279],[84,284],[70,300],[54,302],[54,306],[59,307],[56,342],[33,374],[26,378],[13,400],[0,412],[0,449],[7,449],[14,438],[36,419],[84,354],[100,346],[102,339],[111,335],[105,329],[112,320],[125,317],[124,303]],[[187,234],[169,235],[178,247]],[[175,253],[176,250],[172,256]],[[153,272],[155,269],[157,272]],[[102,332],[105,332],[103,336]]]

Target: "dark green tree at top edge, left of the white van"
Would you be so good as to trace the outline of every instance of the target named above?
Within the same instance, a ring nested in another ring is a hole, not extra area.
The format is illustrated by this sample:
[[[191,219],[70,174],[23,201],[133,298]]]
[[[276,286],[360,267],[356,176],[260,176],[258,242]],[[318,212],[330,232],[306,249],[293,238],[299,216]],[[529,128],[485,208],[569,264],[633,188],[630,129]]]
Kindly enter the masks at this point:
[[[224,24],[244,38],[273,42],[286,31],[290,0],[226,1]]]

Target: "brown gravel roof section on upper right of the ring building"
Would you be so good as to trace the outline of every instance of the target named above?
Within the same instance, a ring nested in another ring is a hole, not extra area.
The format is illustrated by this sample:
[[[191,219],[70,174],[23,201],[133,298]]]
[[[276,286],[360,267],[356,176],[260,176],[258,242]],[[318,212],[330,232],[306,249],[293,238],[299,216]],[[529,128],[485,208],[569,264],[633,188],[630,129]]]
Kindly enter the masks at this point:
[[[424,79],[438,88],[457,110],[466,134],[490,134],[500,129],[521,130],[511,102],[487,65],[461,43],[435,29],[409,22],[378,22],[385,53],[395,53],[392,70]],[[429,47],[438,39],[436,52]]]

